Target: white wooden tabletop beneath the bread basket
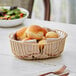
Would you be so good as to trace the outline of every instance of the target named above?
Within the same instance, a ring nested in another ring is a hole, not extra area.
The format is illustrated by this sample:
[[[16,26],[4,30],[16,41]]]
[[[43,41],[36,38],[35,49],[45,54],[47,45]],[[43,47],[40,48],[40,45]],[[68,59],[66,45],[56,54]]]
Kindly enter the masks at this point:
[[[23,26],[40,25],[52,29],[64,30],[68,33],[64,52],[58,58],[47,60],[20,60],[11,52],[9,34]],[[68,69],[76,76],[76,25],[57,22],[27,19],[17,27],[0,28],[0,76],[37,76],[42,72],[53,70],[60,65],[67,65]]]

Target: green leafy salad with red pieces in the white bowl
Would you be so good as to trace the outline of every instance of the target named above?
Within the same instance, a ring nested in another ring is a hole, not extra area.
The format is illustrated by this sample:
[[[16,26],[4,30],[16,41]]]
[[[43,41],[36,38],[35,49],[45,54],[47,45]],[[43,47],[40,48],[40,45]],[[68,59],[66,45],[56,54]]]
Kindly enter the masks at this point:
[[[21,11],[18,7],[10,7],[9,9],[0,8],[0,20],[13,20],[26,16],[26,13]]]

